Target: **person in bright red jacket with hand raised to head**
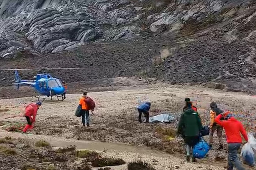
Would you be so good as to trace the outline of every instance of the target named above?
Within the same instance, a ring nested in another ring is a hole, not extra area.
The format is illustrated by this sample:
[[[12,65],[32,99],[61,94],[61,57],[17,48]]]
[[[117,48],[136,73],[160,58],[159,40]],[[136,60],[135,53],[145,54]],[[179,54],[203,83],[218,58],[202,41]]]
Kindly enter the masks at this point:
[[[224,120],[220,120],[222,117]],[[242,123],[236,120],[230,111],[219,114],[214,121],[225,129],[228,143],[228,170],[233,170],[233,167],[236,167],[238,170],[245,170],[237,156],[238,149],[240,149],[242,144],[240,133],[248,142],[248,137]]]

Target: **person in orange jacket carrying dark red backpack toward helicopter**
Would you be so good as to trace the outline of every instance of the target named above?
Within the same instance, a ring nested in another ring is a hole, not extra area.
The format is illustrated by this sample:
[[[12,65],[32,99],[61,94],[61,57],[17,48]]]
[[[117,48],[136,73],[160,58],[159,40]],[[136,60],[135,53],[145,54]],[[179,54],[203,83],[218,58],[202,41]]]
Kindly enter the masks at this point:
[[[80,98],[79,104],[82,106],[81,112],[82,112],[83,126],[85,126],[85,118],[86,118],[86,125],[87,127],[89,127],[90,126],[89,110],[91,110],[92,114],[94,114],[93,111],[94,111],[95,103],[91,98],[87,97],[87,92],[84,92],[82,98]]]

